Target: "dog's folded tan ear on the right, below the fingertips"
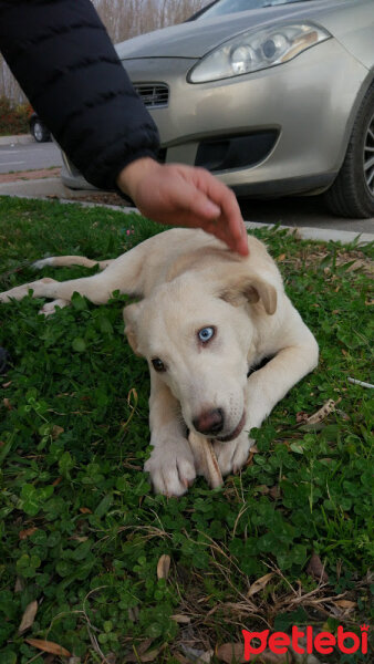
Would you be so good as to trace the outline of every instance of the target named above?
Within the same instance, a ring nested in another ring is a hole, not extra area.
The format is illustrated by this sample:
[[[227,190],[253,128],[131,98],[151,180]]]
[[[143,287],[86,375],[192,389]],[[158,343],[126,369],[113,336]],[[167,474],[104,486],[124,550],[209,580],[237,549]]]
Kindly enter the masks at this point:
[[[241,307],[247,302],[256,304],[261,300],[266,312],[272,315],[277,310],[277,290],[260,277],[243,274],[232,278],[231,283],[226,283],[219,297],[233,307]]]

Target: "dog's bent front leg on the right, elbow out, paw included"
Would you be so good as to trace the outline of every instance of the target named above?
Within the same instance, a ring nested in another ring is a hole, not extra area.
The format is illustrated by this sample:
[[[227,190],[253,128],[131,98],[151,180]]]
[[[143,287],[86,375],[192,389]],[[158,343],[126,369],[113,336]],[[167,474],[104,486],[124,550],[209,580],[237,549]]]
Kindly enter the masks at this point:
[[[229,443],[216,440],[215,452],[222,475],[237,473],[248,458],[254,440],[249,432],[259,427],[274,405],[318,363],[318,345],[307,326],[307,340],[280,350],[262,369],[252,373],[247,383],[247,419],[241,434]],[[308,335],[307,335],[308,332]]]

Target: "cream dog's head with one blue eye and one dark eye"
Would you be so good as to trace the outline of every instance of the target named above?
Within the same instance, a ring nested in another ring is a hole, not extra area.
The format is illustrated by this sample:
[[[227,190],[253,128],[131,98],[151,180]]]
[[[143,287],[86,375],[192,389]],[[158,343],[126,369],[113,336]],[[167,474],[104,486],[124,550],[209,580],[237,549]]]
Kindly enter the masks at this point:
[[[231,440],[246,421],[256,321],[276,308],[276,288],[257,276],[185,273],[126,307],[125,333],[178,400],[188,428]]]

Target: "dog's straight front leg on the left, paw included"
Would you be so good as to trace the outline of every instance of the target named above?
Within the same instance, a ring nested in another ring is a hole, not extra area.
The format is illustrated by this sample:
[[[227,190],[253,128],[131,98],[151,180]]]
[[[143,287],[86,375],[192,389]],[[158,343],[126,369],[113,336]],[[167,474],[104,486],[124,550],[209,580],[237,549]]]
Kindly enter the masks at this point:
[[[153,450],[144,469],[150,474],[157,494],[181,496],[196,477],[194,455],[179,403],[154,372],[150,374],[149,427]]]

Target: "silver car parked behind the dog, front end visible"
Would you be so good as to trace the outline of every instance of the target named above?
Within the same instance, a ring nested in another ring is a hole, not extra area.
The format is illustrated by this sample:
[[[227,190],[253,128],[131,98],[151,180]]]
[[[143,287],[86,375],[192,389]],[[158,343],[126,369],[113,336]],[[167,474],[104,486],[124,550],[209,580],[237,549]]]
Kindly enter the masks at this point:
[[[116,49],[162,160],[238,196],[325,193],[337,215],[374,215],[374,0],[216,0]]]

